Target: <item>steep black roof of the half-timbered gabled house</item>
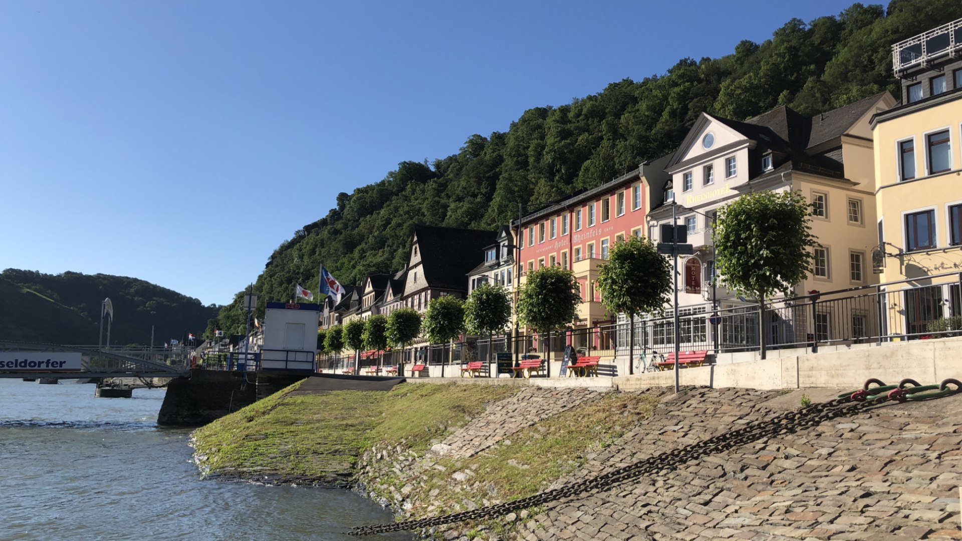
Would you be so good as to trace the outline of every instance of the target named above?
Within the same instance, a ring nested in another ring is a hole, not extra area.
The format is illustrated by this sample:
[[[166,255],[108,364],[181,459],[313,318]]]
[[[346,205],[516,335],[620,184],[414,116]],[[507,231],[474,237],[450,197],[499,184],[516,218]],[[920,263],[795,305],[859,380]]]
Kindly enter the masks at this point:
[[[428,287],[468,291],[468,271],[494,242],[494,231],[415,226],[421,265]]]

